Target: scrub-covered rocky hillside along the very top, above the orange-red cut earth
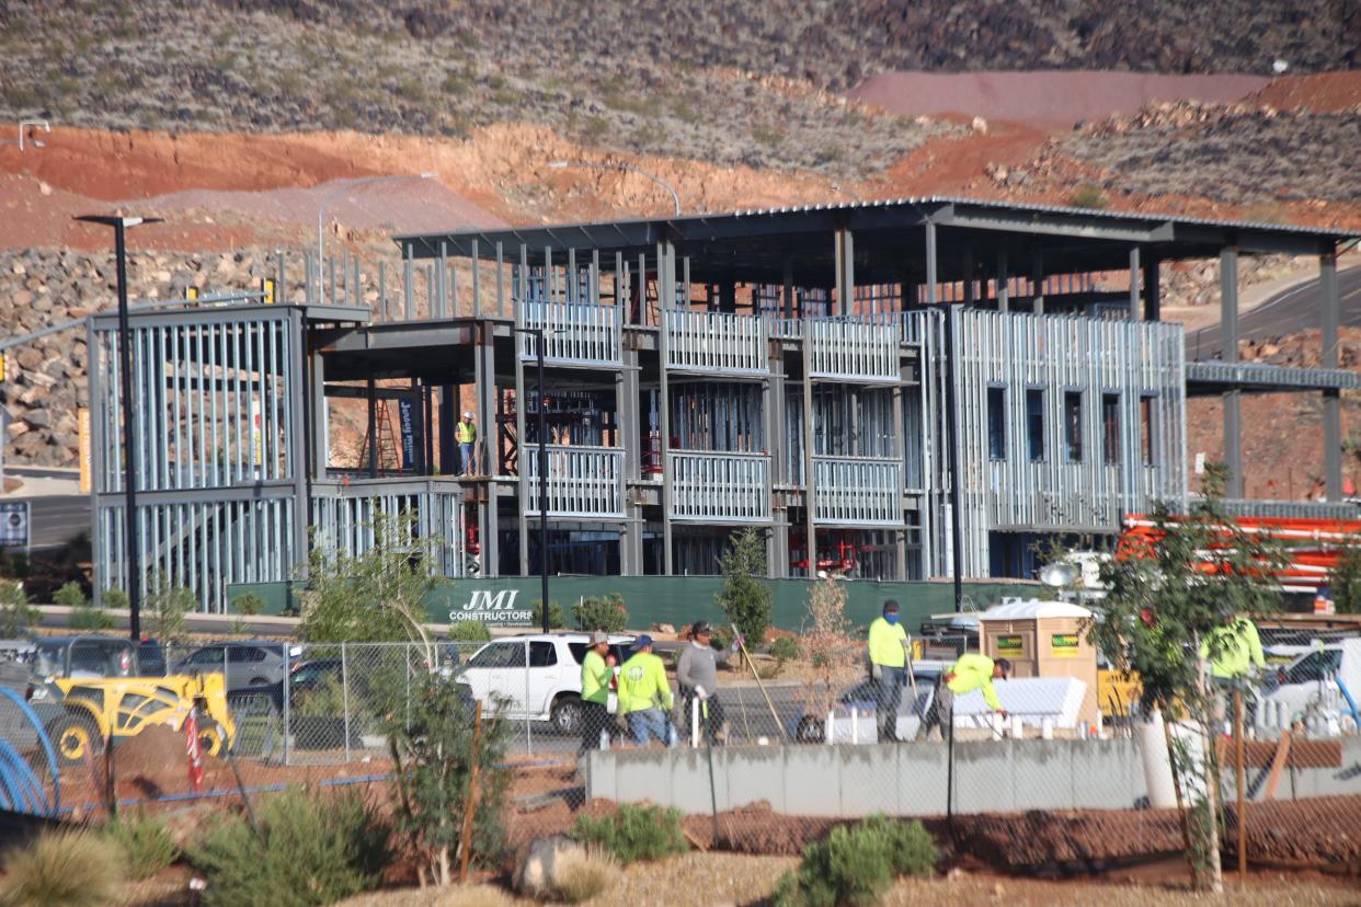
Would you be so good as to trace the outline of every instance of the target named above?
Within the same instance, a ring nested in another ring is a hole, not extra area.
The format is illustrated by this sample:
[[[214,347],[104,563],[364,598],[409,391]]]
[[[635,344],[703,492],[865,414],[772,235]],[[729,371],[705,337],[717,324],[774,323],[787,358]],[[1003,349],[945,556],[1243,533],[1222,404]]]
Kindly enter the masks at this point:
[[[49,0],[0,5],[0,118],[465,135],[840,177],[940,126],[829,94],[886,69],[1357,65],[1347,0]],[[53,53],[53,48],[67,49]]]

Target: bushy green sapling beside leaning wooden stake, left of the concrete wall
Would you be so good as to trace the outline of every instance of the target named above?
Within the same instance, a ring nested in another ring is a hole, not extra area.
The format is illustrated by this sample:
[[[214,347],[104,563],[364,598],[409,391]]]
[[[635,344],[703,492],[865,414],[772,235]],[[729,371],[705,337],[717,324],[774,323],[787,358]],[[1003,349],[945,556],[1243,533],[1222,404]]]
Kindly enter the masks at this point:
[[[396,831],[416,865],[421,884],[449,884],[461,854],[471,775],[478,767],[476,812],[470,862],[495,865],[506,853],[505,797],[510,775],[505,761],[512,729],[483,715],[475,738],[474,707],[453,684],[426,676],[412,691],[410,719],[388,723],[396,794]],[[501,711],[499,708],[493,711]]]

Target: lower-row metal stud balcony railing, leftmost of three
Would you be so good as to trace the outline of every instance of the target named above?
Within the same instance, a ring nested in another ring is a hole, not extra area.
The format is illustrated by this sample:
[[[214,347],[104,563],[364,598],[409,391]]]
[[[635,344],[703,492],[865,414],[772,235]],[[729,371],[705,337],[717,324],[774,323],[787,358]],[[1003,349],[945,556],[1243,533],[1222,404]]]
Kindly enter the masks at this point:
[[[550,517],[623,517],[623,450],[548,445]],[[529,499],[525,514],[538,515],[539,449],[525,445],[521,461],[528,464]]]

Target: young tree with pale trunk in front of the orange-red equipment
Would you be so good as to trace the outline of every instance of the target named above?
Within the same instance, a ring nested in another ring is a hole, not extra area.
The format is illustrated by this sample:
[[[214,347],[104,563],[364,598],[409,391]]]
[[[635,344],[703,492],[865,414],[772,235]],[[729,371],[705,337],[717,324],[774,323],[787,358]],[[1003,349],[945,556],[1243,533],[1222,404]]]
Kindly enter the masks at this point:
[[[1279,606],[1274,571],[1285,566],[1270,537],[1244,532],[1222,503],[1225,472],[1211,466],[1204,494],[1184,517],[1160,503],[1147,544],[1102,566],[1109,590],[1089,628],[1092,642],[1119,666],[1136,672],[1145,711],[1180,714],[1206,741],[1200,766],[1173,753],[1175,768],[1199,771],[1192,785],[1203,798],[1192,804],[1192,849],[1198,888],[1221,892],[1218,763],[1213,757],[1217,691],[1209,664],[1219,651],[1217,630],[1236,615]],[[1207,643],[1203,650],[1202,645]],[[1177,763],[1181,763],[1177,766]]]

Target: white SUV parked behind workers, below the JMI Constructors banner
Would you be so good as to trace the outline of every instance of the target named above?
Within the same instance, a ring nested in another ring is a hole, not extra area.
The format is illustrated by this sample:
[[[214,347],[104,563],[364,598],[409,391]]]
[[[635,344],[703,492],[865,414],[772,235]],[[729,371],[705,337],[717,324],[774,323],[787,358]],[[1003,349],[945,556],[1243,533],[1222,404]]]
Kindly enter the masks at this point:
[[[614,634],[610,649],[619,664],[633,636]],[[581,661],[589,647],[584,632],[521,634],[494,639],[455,677],[468,685],[483,708],[506,718],[548,721],[563,734],[581,729]]]

